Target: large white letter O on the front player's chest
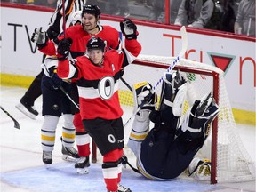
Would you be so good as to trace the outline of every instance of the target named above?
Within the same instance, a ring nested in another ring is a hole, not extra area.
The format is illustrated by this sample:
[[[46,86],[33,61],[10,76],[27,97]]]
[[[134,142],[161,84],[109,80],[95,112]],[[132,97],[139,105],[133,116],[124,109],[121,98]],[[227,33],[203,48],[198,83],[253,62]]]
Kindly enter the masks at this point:
[[[100,79],[99,85],[100,98],[103,100],[109,100],[114,92],[115,82],[112,76],[105,76]]]

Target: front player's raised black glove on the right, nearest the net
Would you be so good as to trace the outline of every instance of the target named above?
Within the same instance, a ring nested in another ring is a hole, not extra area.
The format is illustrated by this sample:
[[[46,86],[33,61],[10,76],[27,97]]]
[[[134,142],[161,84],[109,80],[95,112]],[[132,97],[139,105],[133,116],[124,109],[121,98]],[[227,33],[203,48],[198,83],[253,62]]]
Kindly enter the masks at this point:
[[[132,20],[125,18],[120,22],[120,28],[126,39],[137,39],[137,26],[132,22]]]

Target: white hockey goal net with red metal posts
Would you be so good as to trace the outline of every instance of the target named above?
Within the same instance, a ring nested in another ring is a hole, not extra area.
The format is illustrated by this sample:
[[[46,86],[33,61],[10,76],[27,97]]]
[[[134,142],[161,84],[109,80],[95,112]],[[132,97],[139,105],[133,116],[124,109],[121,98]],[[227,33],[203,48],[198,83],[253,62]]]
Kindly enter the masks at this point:
[[[124,80],[132,84],[148,81],[155,85],[164,75],[166,68],[175,58],[140,55],[131,65],[124,69]],[[212,161],[211,183],[255,180],[255,163],[244,148],[237,132],[236,123],[228,100],[224,73],[220,68],[181,59],[174,70],[180,70],[188,76],[187,99],[184,103],[185,114],[194,101],[200,100],[205,94],[212,92],[220,107],[219,116],[212,123],[212,132],[198,152],[198,156]],[[173,70],[173,71],[174,71]],[[133,93],[124,83],[119,83],[119,96],[124,108],[124,124],[132,116]],[[156,87],[160,96],[162,84]],[[124,140],[127,143],[132,122],[124,127]],[[94,152],[93,152],[94,150]],[[124,148],[129,150],[128,148]],[[129,152],[126,152],[126,154]],[[95,159],[95,148],[92,148],[92,161]]]

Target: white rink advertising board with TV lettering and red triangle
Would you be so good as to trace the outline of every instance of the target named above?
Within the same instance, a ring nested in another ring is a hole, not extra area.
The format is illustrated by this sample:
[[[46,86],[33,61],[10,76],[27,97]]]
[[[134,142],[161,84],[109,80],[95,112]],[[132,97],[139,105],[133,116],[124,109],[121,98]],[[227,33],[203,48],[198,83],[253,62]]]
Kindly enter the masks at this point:
[[[39,73],[43,54],[36,50],[30,36],[35,28],[46,30],[51,16],[52,12],[1,6],[1,73],[23,76]],[[102,19],[100,24],[120,30],[118,21]],[[156,28],[140,22],[137,27],[141,54],[176,56],[180,52],[177,28]],[[223,69],[232,108],[255,112],[255,40],[188,31],[185,58]]]

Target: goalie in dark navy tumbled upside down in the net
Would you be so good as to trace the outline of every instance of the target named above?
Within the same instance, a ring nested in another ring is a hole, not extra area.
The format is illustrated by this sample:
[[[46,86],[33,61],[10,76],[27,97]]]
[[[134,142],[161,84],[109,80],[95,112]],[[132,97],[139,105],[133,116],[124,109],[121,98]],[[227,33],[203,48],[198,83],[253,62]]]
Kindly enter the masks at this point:
[[[147,100],[134,118],[128,140],[139,172],[149,179],[172,180],[188,168],[189,175],[196,179],[210,180],[211,164],[195,156],[219,114],[212,93],[196,100],[181,122],[187,92],[185,77],[179,71],[164,74],[158,110],[157,95],[151,88],[147,82],[133,86],[135,108]],[[151,130],[150,121],[155,124]]]

